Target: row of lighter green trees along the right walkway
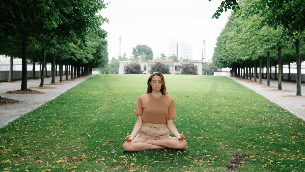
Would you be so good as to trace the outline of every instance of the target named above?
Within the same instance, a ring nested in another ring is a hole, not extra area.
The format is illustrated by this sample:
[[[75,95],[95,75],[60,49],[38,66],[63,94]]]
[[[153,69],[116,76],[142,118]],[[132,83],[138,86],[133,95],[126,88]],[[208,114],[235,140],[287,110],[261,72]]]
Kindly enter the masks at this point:
[[[248,71],[254,67],[256,81],[259,62],[259,82],[263,77],[261,71],[266,66],[268,86],[271,66],[278,65],[279,76],[275,79],[278,79],[278,89],[282,90],[282,66],[288,64],[290,73],[290,63],[296,63],[296,95],[302,95],[301,62],[305,59],[305,12],[302,4],[302,0],[222,2],[213,17],[218,18],[227,9],[234,12],[217,38],[213,64],[217,68],[231,68],[235,77],[245,73],[246,79],[249,76],[250,80],[252,74],[249,75]]]

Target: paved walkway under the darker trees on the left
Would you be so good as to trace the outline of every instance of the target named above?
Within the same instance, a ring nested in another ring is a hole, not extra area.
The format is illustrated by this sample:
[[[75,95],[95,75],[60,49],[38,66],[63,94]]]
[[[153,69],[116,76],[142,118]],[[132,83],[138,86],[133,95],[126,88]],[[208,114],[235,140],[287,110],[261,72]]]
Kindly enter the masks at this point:
[[[26,114],[41,105],[45,102],[55,99],[57,96],[66,92],[68,89],[74,87],[75,85],[83,82],[89,77],[94,75],[88,75],[85,77],[79,77],[74,79],[74,81],[66,81],[63,77],[63,85],[44,85],[55,87],[58,89],[34,89],[45,94],[5,94],[8,91],[20,90],[21,81],[14,81],[13,83],[0,82],[0,96],[23,101],[23,103],[15,103],[8,105],[0,105],[0,128],[7,125],[9,122],[12,122],[16,118],[20,118],[23,114]],[[70,79],[70,76],[69,76]],[[59,82],[59,77],[55,77],[55,82]],[[45,78],[45,84],[51,83],[51,77]],[[38,87],[40,84],[40,79],[36,80],[27,80],[27,88]]]

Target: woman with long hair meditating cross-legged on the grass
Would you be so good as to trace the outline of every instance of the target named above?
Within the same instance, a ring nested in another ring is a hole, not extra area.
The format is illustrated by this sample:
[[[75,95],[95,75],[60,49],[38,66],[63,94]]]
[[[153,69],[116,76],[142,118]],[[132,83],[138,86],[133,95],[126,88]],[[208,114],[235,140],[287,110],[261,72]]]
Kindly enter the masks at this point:
[[[147,149],[184,149],[187,142],[179,134],[173,120],[176,119],[174,99],[167,93],[165,80],[160,72],[154,72],[147,81],[147,92],[138,98],[135,115],[138,116],[132,133],[124,137],[125,151]],[[167,124],[167,126],[165,125]],[[168,128],[167,128],[168,127]],[[176,137],[171,137],[172,132]]]

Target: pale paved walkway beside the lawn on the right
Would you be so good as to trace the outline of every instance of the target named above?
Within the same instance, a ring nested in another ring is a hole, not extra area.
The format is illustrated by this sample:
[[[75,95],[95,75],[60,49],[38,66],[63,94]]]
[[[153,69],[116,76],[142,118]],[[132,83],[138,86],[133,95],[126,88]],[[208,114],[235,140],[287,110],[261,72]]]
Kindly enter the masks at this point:
[[[305,121],[305,97],[282,97],[282,95],[296,95],[296,83],[289,83],[286,81],[282,81],[282,89],[289,90],[292,92],[278,92],[278,91],[267,91],[271,89],[278,88],[264,88],[262,86],[267,86],[267,80],[262,79],[262,83],[266,85],[257,85],[258,83],[247,82],[246,79],[240,79],[236,77],[229,77],[232,80],[250,88],[256,93],[266,97],[272,102],[280,105],[284,109],[289,110],[291,113],[295,114],[297,117],[303,119]],[[252,80],[254,78],[252,77]],[[257,78],[257,81],[259,79]],[[301,84],[302,95],[305,95],[305,84]],[[278,87],[278,80],[270,80],[270,86]]]

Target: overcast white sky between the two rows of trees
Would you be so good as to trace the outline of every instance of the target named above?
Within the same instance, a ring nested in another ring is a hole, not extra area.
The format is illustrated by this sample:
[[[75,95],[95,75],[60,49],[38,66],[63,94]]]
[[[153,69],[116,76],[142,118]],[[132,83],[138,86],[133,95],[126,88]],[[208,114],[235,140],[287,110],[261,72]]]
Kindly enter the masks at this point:
[[[212,19],[221,1],[213,0],[106,0],[110,2],[101,11],[109,24],[102,29],[108,32],[109,59],[119,55],[121,36],[121,55],[131,56],[132,48],[145,44],[152,48],[154,58],[157,54],[168,54],[168,40],[182,39],[193,43],[193,59],[202,58],[202,40],[206,39],[206,58],[213,55],[216,38],[224,28],[231,12],[223,12]]]

